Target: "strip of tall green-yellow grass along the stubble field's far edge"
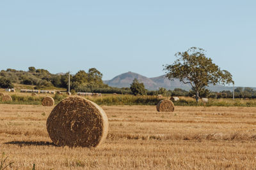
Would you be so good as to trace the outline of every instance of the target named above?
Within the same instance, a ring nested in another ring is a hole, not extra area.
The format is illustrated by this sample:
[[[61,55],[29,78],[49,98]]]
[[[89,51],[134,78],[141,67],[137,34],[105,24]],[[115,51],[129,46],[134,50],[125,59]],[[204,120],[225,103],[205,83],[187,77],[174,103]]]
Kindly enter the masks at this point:
[[[62,99],[67,97],[63,95],[52,95],[52,94],[39,94],[38,96],[31,96],[30,93],[19,93],[19,92],[5,92],[12,96],[13,101],[11,102],[2,102],[0,99],[0,104],[33,104],[40,105],[42,99],[45,96],[54,97],[55,104],[58,104]],[[168,99],[169,97],[163,97],[162,99]],[[106,106],[113,105],[149,105],[156,106],[156,104],[161,101],[161,99],[156,96],[132,96],[132,95],[111,95],[104,94],[102,97],[88,97],[91,101]],[[191,97],[180,97],[179,101],[174,102],[175,106],[238,106],[238,107],[256,107],[256,99],[209,99],[209,103],[196,103],[195,99]]]

